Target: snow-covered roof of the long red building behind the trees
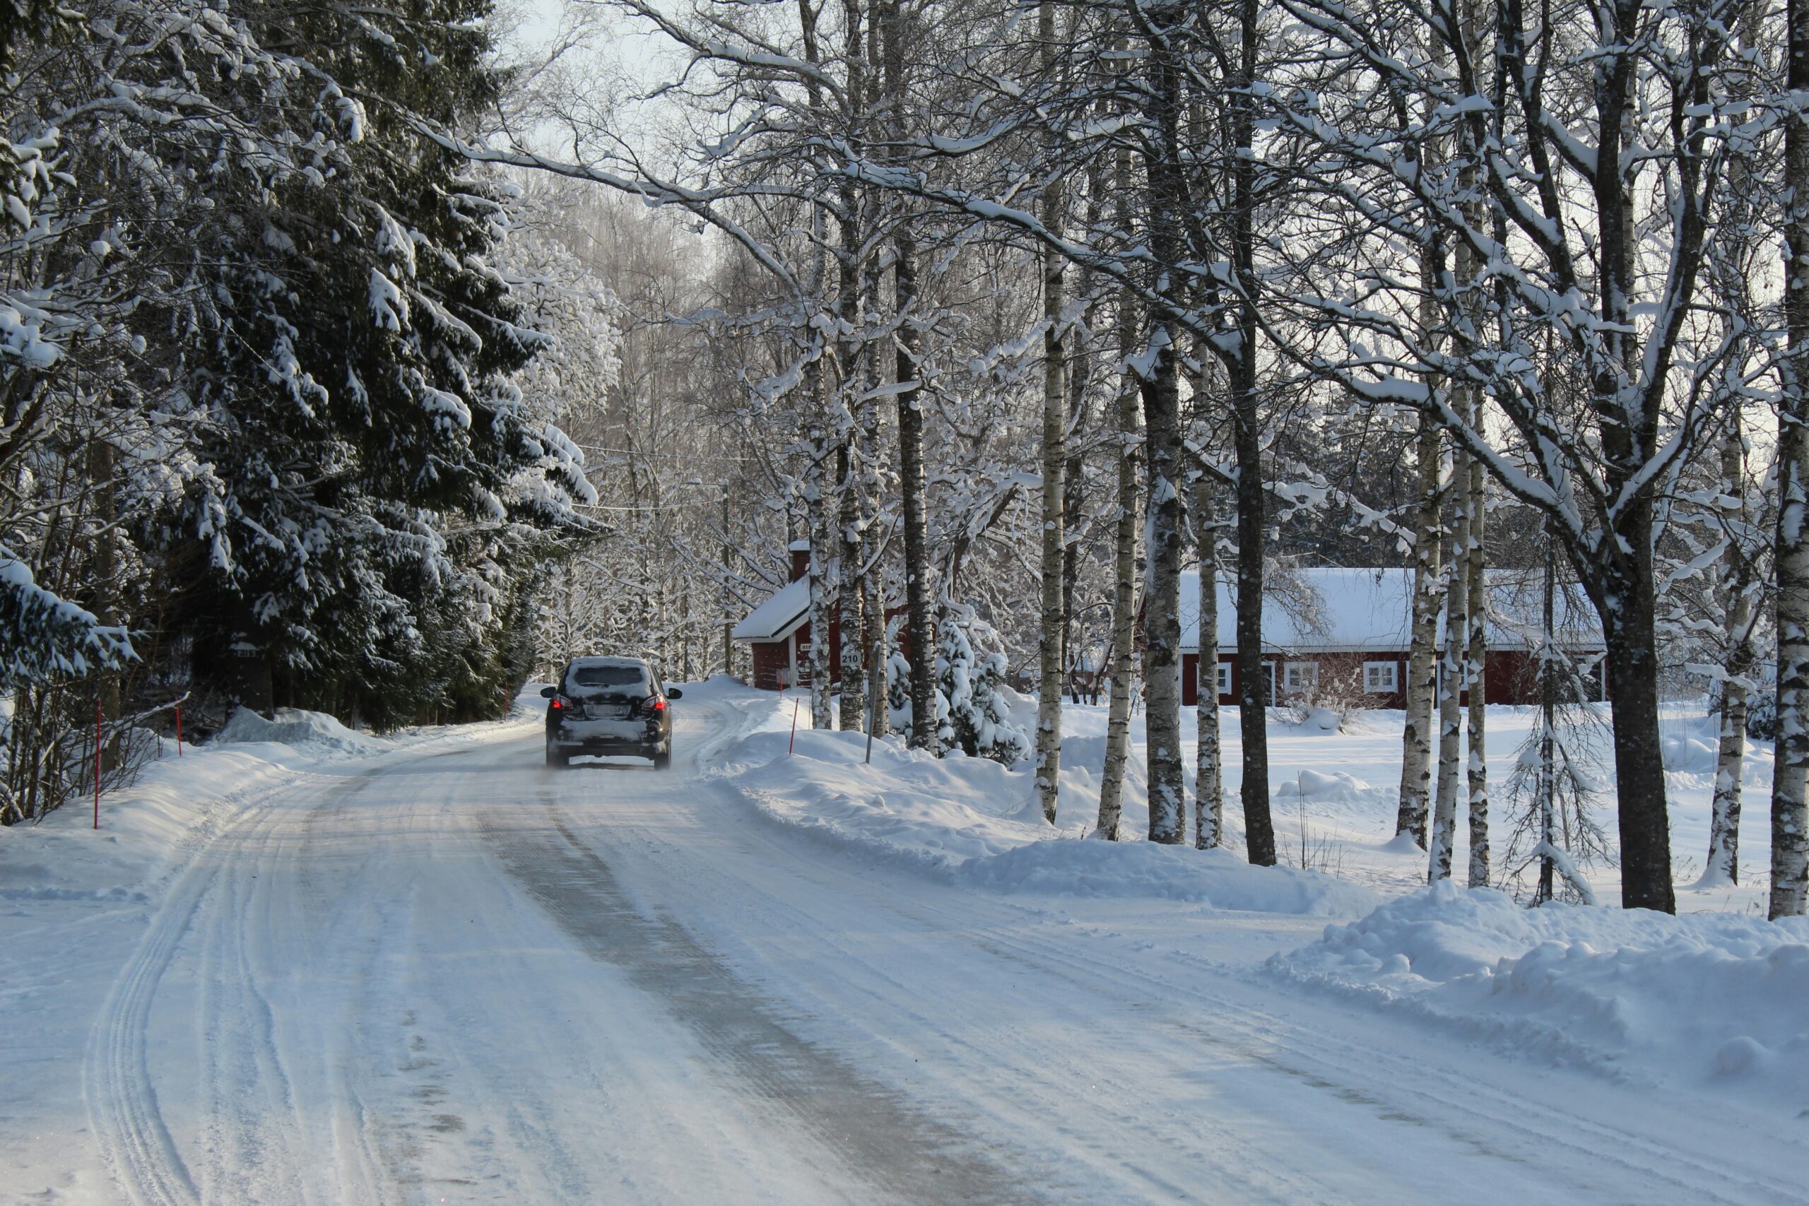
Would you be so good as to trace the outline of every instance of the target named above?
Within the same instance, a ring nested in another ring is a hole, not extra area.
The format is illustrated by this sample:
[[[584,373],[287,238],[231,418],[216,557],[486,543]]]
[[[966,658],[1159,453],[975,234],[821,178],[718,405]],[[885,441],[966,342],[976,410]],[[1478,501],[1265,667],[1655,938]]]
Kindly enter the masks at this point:
[[[1411,644],[1411,570],[1295,570],[1306,586],[1295,602],[1272,589],[1263,598],[1263,645],[1275,651],[1393,651]],[[1539,629],[1541,575],[1532,570],[1489,570],[1489,647],[1525,649]],[[1236,579],[1219,573],[1219,649],[1237,645]],[[1559,640],[1599,645],[1601,627],[1585,600],[1559,591]],[[1306,606],[1299,606],[1304,602]],[[1572,606],[1576,604],[1576,606]],[[1444,613],[1440,611],[1440,627]],[[1199,575],[1181,575],[1181,649],[1199,653]]]

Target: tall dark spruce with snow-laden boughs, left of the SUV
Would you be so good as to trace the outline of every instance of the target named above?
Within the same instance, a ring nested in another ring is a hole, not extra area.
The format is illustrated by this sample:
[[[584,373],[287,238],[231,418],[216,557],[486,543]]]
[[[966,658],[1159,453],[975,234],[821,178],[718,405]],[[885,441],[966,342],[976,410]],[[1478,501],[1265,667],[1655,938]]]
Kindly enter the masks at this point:
[[[488,262],[510,190],[414,125],[496,96],[487,11],[250,4],[241,36],[280,38],[280,69],[206,81],[223,107],[286,118],[275,145],[311,139],[300,163],[251,157],[217,183],[186,268],[203,287],[170,318],[208,466],[163,532],[203,568],[179,624],[226,635],[197,644],[195,671],[253,705],[434,702],[516,615],[497,604],[537,555],[492,537],[572,523],[584,490],[510,382],[546,345]],[[172,166],[208,154],[179,148]],[[449,542],[447,521],[476,539]]]

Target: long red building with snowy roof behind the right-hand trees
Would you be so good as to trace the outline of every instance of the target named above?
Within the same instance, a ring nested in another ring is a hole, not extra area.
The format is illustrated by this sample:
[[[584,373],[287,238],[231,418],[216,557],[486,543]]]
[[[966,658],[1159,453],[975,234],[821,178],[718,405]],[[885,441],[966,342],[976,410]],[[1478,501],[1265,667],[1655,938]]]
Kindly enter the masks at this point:
[[[1263,671],[1268,698],[1337,693],[1366,707],[1406,707],[1413,631],[1411,570],[1295,570],[1288,589],[1263,600]],[[1489,703],[1538,703],[1534,649],[1543,613],[1541,571],[1485,571],[1489,598]],[[1236,665],[1234,584],[1219,579],[1217,700],[1236,705],[1243,682]],[[1601,627],[1586,602],[1561,591],[1558,644],[1603,694]],[[1440,640],[1444,613],[1440,613]],[[1194,705],[1199,680],[1199,575],[1181,579],[1181,702]]]

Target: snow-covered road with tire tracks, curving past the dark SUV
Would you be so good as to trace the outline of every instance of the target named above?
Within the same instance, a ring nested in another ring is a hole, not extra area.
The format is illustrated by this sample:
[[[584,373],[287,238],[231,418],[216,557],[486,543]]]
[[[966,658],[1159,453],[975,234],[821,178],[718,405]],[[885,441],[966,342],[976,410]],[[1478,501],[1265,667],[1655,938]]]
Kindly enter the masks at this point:
[[[1322,922],[800,837],[700,774],[745,720],[680,707],[658,774],[516,721],[242,810],[92,1025],[118,1184],[16,1201],[1805,1201],[1800,1117],[1263,973]]]

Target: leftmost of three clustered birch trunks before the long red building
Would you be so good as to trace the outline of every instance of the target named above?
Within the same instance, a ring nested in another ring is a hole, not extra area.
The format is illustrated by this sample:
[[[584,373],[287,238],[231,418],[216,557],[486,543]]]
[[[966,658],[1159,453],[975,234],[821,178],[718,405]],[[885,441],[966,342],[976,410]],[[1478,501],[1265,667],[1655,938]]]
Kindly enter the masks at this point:
[[[1433,797],[1433,709],[1438,676],[1440,577],[1438,423],[1420,412],[1420,506],[1413,524],[1413,636],[1407,647],[1407,718],[1400,729],[1400,810],[1395,834],[1413,834],[1425,850],[1425,823]]]

